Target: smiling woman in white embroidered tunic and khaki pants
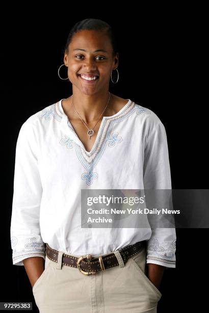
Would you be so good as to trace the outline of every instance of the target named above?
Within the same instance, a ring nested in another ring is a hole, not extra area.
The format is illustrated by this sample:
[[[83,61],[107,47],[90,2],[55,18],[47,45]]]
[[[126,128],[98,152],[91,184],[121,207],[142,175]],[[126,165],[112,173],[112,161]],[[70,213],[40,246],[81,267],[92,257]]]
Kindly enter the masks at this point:
[[[64,53],[67,78],[58,71],[72,95],[19,131],[13,264],[25,266],[43,313],[156,312],[164,269],[175,267],[174,228],[84,227],[81,220],[83,189],[171,189],[164,125],[109,92],[118,59],[107,23],[76,23]]]

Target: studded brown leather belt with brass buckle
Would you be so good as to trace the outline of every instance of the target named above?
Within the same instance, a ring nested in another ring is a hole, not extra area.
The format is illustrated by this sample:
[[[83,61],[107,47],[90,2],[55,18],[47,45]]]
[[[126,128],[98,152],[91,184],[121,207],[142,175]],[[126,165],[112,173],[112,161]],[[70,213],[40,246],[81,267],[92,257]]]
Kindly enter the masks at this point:
[[[138,241],[134,244],[127,245],[126,247],[119,249],[120,255],[123,259],[124,264],[127,260],[139,253],[146,245],[146,240]],[[49,247],[46,243],[46,256],[54,262],[58,261],[59,251]],[[76,267],[79,271],[85,275],[95,275],[99,271],[105,271],[110,267],[118,266],[118,260],[115,253],[110,253],[106,255],[100,255],[93,257],[90,254],[83,255],[80,258],[64,254],[62,255],[62,264]]]

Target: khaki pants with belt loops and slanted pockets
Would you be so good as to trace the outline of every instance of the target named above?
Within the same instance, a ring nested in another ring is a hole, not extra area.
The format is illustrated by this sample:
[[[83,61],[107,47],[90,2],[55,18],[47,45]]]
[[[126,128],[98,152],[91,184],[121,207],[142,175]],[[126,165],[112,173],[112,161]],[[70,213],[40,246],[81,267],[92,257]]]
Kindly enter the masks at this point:
[[[162,294],[145,275],[146,250],[119,265],[86,276],[75,267],[45,258],[45,270],[33,286],[35,302],[41,313],[156,313]]]

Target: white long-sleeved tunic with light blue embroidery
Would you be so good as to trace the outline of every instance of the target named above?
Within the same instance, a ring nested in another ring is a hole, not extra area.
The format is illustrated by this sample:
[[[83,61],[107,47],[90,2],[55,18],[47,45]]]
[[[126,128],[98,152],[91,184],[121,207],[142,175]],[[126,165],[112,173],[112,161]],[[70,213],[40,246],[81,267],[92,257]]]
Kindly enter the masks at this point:
[[[147,263],[175,267],[175,228],[82,228],[81,189],[171,189],[165,127],[130,99],[103,117],[90,152],[62,100],[21,126],[11,218],[13,264],[45,259],[45,244],[66,254],[98,256],[147,240]]]

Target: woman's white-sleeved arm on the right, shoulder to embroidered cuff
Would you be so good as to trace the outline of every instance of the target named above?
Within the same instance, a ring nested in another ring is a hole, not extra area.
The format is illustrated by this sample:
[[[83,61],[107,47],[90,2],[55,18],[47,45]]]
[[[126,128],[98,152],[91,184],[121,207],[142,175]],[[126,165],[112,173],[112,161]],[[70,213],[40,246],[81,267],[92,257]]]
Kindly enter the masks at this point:
[[[156,115],[149,116],[146,129],[143,181],[147,208],[172,208],[172,185],[166,130]],[[174,217],[161,214],[149,217],[151,237],[147,241],[147,261],[175,268],[176,232]]]

